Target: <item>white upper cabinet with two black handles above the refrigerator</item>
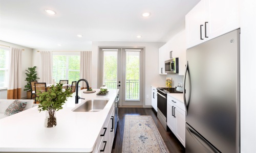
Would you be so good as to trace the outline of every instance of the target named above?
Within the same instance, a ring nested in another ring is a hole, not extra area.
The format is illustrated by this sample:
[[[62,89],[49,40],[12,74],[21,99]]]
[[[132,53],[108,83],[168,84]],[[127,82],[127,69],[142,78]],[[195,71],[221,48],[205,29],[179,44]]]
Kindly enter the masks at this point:
[[[238,29],[238,1],[200,1],[186,15],[186,48]]]

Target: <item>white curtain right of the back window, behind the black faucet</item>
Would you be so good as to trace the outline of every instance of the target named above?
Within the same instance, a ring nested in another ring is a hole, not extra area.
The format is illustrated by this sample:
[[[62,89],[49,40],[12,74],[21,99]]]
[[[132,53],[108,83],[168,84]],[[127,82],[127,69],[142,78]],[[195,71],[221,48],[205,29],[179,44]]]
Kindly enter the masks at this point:
[[[92,85],[92,52],[80,52],[80,79],[86,79],[89,87]],[[80,82],[81,89],[87,88],[84,81]]]

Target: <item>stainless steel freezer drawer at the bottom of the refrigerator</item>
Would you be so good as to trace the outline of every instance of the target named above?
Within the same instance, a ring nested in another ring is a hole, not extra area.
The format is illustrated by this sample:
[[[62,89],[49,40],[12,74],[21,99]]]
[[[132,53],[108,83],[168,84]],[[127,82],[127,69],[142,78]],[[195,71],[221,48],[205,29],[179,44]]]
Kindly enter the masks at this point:
[[[220,152],[186,123],[186,153]]]

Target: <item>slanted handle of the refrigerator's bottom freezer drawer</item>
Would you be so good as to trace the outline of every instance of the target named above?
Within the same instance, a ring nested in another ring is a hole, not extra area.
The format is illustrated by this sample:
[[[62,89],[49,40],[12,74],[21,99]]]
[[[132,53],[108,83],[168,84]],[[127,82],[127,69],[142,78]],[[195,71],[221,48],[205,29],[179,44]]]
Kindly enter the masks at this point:
[[[186,126],[186,130],[194,139],[194,141],[197,142],[197,144],[199,144],[206,152],[220,152],[219,150],[211,146],[211,144],[209,144],[208,142],[204,142],[204,138],[201,135],[199,135],[194,129],[191,129],[190,127]]]

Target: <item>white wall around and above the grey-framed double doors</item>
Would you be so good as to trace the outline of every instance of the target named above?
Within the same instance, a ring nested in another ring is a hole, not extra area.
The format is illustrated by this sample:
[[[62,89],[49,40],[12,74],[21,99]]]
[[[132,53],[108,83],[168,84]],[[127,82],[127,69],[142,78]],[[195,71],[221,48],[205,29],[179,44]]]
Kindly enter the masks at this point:
[[[158,74],[158,48],[164,43],[146,42],[93,42],[92,43],[92,88],[98,88],[98,46],[145,47],[144,50],[144,95],[143,105],[151,106],[151,85],[161,80]]]

